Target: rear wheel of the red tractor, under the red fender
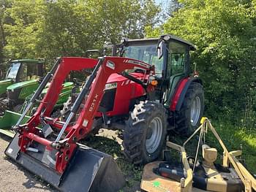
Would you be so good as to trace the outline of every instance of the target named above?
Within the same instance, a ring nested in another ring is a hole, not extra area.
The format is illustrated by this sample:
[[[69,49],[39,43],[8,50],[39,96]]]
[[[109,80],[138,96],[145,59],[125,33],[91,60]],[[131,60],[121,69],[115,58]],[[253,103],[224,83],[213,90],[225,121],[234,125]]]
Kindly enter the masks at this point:
[[[203,86],[192,82],[189,85],[181,110],[176,113],[176,130],[187,136],[200,126],[204,110]]]

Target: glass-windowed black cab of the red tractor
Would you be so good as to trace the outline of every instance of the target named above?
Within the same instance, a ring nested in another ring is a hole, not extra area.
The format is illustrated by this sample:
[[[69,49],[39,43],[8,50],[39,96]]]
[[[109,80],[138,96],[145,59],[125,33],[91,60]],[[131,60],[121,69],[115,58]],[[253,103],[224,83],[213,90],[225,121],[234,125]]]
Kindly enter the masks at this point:
[[[151,39],[123,39],[120,55],[135,58],[155,68],[157,100],[170,106],[176,85],[189,77],[189,51],[194,45],[172,35]]]

